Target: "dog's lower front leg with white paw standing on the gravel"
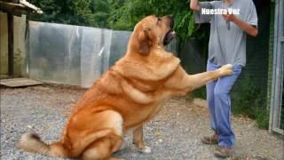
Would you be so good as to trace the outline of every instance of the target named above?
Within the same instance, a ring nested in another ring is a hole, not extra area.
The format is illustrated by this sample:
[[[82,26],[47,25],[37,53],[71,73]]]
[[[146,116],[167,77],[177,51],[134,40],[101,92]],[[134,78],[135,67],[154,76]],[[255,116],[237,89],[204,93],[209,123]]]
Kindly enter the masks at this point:
[[[140,152],[151,153],[151,148],[147,147],[143,142],[143,125],[133,130],[133,144]]]

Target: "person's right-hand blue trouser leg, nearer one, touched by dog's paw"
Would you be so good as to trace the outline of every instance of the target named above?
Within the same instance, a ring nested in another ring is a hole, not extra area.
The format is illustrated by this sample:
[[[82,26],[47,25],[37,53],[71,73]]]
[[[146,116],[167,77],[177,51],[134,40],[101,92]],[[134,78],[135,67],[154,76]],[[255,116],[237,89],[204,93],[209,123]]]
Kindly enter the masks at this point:
[[[214,89],[216,128],[220,147],[232,148],[235,141],[231,128],[230,91],[240,75],[241,66],[233,66],[233,75],[219,78]]]

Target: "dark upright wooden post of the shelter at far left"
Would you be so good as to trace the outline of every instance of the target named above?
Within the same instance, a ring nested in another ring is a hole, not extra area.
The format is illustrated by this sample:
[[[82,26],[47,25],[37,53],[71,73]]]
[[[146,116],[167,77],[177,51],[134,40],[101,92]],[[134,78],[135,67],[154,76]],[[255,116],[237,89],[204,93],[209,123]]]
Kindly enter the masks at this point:
[[[7,13],[8,20],[8,74],[14,76],[14,20],[12,12]]]

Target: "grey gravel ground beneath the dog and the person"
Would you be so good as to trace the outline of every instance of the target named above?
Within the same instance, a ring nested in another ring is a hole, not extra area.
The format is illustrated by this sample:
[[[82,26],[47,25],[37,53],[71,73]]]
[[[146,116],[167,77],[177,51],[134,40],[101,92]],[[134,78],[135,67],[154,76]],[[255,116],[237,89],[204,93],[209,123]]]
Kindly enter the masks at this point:
[[[58,140],[70,108],[84,90],[75,87],[35,86],[20,89],[1,88],[1,159],[63,159],[30,154],[17,148],[20,135],[37,132],[44,141]],[[228,159],[284,159],[283,137],[256,128],[255,122],[233,116],[236,145]],[[210,134],[207,108],[185,98],[165,102],[162,112],[145,126],[144,141],[152,154],[138,153],[128,147],[115,157],[126,159],[216,159],[215,146],[204,145],[201,134]]]

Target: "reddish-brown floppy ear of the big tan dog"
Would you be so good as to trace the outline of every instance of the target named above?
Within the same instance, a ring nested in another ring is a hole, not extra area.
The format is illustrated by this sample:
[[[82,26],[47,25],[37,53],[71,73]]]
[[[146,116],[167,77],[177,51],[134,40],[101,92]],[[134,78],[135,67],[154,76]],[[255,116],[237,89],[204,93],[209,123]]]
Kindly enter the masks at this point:
[[[146,28],[143,29],[138,34],[138,52],[142,55],[148,55],[150,54],[151,49],[151,39],[149,37],[150,29]]]

